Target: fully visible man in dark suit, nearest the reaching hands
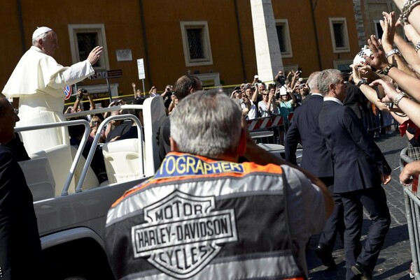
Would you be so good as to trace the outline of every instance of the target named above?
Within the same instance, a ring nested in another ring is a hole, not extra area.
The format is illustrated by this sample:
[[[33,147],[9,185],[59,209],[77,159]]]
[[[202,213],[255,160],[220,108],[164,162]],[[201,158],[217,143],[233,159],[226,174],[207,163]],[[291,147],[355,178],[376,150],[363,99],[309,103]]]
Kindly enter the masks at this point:
[[[391,168],[353,110],[342,105],[346,97],[342,73],[335,69],[322,71],[318,87],[324,96],[319,128],[334,161],[334,191],[342,197],[344,206],[346,279],[369,280],[391,223],[381,186],[391,181]],[[363,207],[370,214],[372,226],[362,246]]]

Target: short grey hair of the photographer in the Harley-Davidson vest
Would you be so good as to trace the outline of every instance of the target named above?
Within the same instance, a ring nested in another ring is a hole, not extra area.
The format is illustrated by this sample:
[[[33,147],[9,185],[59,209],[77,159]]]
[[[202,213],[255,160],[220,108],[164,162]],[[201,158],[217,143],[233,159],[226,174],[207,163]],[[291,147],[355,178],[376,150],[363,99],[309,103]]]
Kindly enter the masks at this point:
[[[209,158],[237,154],[242,113],[226,94],[197,91],[180,101],[169,118],[179,152]]]

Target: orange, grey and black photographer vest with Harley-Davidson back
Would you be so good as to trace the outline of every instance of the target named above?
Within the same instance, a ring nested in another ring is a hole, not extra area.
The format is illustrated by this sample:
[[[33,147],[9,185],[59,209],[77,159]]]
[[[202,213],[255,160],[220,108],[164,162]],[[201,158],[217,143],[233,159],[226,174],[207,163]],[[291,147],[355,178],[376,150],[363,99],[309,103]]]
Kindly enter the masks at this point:
[[[304,279],[278,165],[169,153],[109,210],[117,279]]]

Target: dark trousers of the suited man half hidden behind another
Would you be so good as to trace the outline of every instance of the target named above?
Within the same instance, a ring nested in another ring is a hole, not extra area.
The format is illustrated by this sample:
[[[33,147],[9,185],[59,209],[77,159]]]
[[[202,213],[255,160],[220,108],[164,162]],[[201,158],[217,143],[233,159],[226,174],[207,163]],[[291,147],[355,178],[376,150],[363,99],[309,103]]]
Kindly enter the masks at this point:
[[[334,177],[320,177],[319,179],[328,186],[335,206],[331,216],[325,221],[325,226],[319,237],[319,243],[328,245],[332,250],[334,248],[337,233],[339,233],[341,237],[344,235],[344,209],[342,198],[338,193],[334,193]]]

